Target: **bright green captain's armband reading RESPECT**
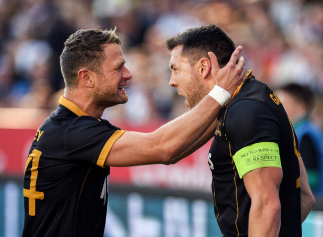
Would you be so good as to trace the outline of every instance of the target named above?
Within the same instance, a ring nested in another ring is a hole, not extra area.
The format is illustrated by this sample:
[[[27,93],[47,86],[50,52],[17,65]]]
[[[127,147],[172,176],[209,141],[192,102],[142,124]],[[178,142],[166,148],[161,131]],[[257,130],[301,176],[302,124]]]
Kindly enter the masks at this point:
[[[279,147],[275,142],[259,142],[243,147],[233,156],[240,178],[262,167],[281,168]]]

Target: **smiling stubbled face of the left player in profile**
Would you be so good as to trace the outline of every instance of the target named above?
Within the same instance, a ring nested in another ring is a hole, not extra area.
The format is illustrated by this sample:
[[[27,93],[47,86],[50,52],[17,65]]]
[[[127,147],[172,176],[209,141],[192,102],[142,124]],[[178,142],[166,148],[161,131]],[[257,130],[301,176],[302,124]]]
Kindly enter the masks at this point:
[[[128,101],[125,86],[132,75],[125,66],[126,59],[118,44],[108,44],[104,49],[104,55],[101,73],[96,74],[97,83],[93,98],[97,106],[107,108]]]

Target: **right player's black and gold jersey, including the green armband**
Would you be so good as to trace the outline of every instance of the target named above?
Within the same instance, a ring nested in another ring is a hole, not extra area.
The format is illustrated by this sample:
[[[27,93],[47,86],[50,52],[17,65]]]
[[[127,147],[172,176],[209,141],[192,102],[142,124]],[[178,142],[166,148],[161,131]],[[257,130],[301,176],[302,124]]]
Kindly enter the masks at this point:
[[[208,158],[220,230],[225,237],[247,237],[251,200],[242,177],[252,169],[275,166],[283,170],[279,236],[300,237],[299,153],[293,127],[267,85],[250,76],[239,90],[218,118]]]

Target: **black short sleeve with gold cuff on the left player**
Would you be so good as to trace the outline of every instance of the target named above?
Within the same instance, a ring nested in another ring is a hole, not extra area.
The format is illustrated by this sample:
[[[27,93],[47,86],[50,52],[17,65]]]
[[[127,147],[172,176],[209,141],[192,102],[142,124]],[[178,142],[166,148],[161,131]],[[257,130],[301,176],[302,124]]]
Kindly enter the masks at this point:
[[[125,131],[89,116],[81,116],[68,128],[65,135],[66,159],[104,167],[114,142]]]

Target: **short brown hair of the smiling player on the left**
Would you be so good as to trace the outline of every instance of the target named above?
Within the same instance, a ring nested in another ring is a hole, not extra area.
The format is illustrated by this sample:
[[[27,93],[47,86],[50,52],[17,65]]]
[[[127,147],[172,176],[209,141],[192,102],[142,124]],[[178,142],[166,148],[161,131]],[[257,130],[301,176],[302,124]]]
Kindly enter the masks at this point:
[[[121,45],[115,30],[81,29],[70,35],[60,57],[66,87],[78,85],[78,73],[82,67],[100,73],[104,47],[111,43]]]

